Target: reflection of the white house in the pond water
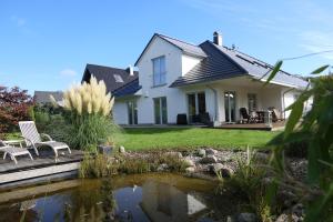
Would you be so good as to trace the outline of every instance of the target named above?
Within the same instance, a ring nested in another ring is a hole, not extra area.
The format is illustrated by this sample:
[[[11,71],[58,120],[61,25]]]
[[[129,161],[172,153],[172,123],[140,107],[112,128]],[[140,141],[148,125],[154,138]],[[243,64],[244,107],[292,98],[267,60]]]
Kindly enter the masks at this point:
[[[148,181],[142,185],[140,204],[151,221],[189,221],[204,212],[206,206],[193,195],[167,183]]]

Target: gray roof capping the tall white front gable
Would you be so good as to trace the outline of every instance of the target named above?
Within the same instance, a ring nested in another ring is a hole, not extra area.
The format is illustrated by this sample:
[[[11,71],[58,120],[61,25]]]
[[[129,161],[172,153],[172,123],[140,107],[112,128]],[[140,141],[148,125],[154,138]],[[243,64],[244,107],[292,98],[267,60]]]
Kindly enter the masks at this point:
[[[194,56],[194,57],[206,57],[206,54],[204,53],[204,51],[199,46],[191,44],[191,43],[181,41],[179,39],[167,37],[167,36],[163,36],[163,34],[154,33],[154,36],[149,40],[148,44],[145,46],[145,48],[141,52],[140,57],[138,58],[138,60],[135,62],[135,65],[138,64],[139,60],[143,56],[143,53],[145,52],[145,50],[148,49],[148,47],[150,46],[150,43],[152,42],[152,40],[154,38],[157,38],[157,37],[159,37],[159,38],[165,40],[167,42],[173,44],[174,47],[179,48],[185,54],[190,54],[190,56]]]

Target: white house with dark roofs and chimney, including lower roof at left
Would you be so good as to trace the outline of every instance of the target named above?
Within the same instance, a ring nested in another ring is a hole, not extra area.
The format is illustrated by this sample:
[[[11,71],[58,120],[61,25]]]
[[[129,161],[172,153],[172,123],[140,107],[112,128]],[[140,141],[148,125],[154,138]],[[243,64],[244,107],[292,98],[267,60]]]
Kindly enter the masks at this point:
[[[261,77],[272,65],[222,46],[218,32],[213,41],[199,46],[155,33],[135,67],[139,73],[92,64],[84,71],[82,81],[93,74],[115,95],[113,115],[119,124],[176,123],[181,113],[189,122],[205,114],[214,124],[232,123],[241,119],[240,108],[283,111],[307,85],[303,79],[280,71],[263,88],[265,78]]]

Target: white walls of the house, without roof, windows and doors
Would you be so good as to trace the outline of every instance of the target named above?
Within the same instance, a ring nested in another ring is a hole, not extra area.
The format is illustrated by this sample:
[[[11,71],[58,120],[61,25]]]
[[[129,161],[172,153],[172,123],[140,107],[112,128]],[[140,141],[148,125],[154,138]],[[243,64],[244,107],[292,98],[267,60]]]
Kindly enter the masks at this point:
[[[152,59],[164,57],[167,83],[160,87],[153,85],[153,64]],[[250,77],[232,78],[221,81],[214,81],[205,84],[195,84],[183,88],[169,88],[179,77],[184,75],[193,67],[195,67],[202,58],[184,54],[181,49],[155,36],[140,60],[137,63],[139,68],[139,84],[142,87],[140,97],[129,97],[117,99],[113,115],[119,124],[129,123],[129,110],[127,101],[137,101],[138,105],[138,123],[154,124],[154,98],[167,98],[168,123],[176,123],[179,113],[186,113],[189,117],[188,94],[193,92],[204,92],[205,94],[205,111],[210,114],[211,121],[223,123],[225,117],[225,92],[235,93],[235,120],[240,120],[240,108],[248,108],[249,93],[256,97],[256,109],[266,110],[274,107],[283,111],[296,98],[299,92],[290,91],[284,93],[290,88],[269,84],[262,87],[262,82],[254,82]],[[284,118],[289,117],[289,112]]]

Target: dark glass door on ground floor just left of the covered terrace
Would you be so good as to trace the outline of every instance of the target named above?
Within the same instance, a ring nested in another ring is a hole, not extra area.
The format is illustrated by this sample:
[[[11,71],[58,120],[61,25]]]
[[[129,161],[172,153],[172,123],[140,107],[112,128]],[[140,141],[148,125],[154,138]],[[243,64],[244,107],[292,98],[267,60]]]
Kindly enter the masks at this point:
[[[188,94],[188,104],[189,104],[189,121],[198,122],[199,114],[205,113],[205,93],[196,92]]]

